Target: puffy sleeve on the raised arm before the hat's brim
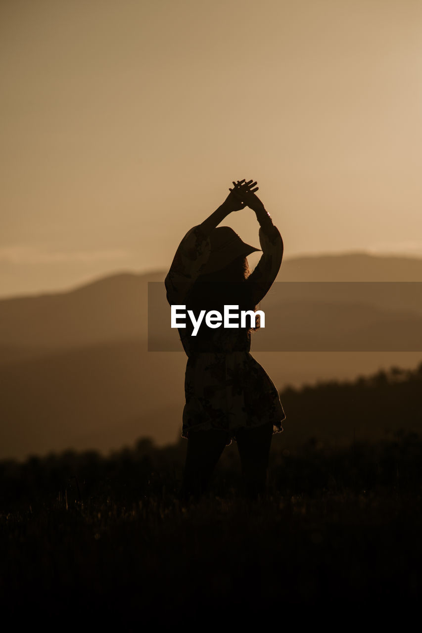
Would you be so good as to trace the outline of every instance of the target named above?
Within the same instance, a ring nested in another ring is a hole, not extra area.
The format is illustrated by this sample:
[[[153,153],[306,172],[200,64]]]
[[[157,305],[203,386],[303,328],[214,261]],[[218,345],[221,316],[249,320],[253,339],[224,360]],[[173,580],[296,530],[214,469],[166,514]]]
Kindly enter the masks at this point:
[[[259,303],[276,279],[283,259],[283,239],[278,228],[260,227],[259,242],[262,255],[251,275],[246,279],[248,297],[254,305]]]

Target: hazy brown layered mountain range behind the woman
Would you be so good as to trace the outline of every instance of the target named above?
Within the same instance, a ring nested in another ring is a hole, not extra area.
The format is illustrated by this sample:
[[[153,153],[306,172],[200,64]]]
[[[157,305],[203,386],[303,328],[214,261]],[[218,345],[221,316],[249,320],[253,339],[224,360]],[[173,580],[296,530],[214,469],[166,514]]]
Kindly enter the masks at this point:
[[[140,436],[159,444],[179,436],[186,356],[175,330],[179,353],[147,349],[148,282],[163,283],[165,274],[111,275],[70,291],[0,300],[0,458],[69,447],[107,451]],[[293,258],[283,262],[278,281],[422,281],[422,260],[365,254]],[[252,342],[253,355],[279,389],[419,363],[422,353],[412,351],[422,332],[418,297],[399,305],[390,301],[387,285],[387,294],[369,292],[359,302],[348,292],[352,285],[341,284],[345,294],[335,313],[324,285],[310,285],[317,295],[300,301],[295,285],[290,294],[279,286],[281,295],[273,286],[262,302],[268,330],[254,334]],[[164,288],[162,299],[165,306]],[[283,337],[303,343],[304,327],[310,337],[305,351],[271,353]],[[381,350],[393,329],[403,351],[312,353],[316,336],[332,340],[336,334],[341,341],[346,327],[355,341],[377,340]],[[274,337],[267,347],[265,335]],[[254,346],[269,352],[255,353]]]

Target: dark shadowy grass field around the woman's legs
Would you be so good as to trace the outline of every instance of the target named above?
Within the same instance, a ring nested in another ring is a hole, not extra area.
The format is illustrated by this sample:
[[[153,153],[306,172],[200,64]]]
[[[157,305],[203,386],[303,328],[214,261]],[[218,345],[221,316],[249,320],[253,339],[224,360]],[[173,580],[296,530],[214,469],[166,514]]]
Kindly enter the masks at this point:
[[[290,451],[274,436],[269,498],[260,502],[240,496],[230,446],[209,498],[190,506],[179,501],[186,443],[3,461],[3,613],[59,628],[70,618],[116,618],[135,630],[226,613],[238,624],[272,614],[281,626],[321,609],[387,615],[418,603],[417,434]]]

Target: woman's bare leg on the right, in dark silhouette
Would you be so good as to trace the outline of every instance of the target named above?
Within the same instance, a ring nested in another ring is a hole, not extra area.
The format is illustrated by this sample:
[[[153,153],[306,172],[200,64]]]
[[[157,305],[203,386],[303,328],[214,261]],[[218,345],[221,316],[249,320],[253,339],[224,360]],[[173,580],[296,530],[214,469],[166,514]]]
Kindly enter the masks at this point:
[[[240,454],[243,484],[250,499],[263,498],[267,490],[267,470],[273,424],[265,423],[248,429],[243,427],[236,434]]]

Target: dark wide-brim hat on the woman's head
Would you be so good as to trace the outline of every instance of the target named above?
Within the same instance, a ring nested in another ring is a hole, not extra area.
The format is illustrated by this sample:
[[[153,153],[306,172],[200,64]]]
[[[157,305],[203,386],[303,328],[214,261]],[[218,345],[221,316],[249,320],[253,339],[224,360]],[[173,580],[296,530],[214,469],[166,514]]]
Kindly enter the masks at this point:
[[[207,263],[201,268],[201,275],[225,268],[238,257],[246,257],[260,248],[246,244],[231,227],[217,227],[210,233],[211,252]]]

